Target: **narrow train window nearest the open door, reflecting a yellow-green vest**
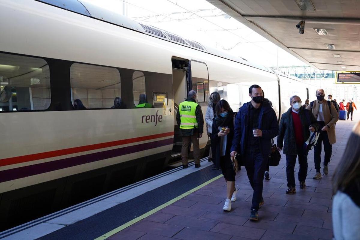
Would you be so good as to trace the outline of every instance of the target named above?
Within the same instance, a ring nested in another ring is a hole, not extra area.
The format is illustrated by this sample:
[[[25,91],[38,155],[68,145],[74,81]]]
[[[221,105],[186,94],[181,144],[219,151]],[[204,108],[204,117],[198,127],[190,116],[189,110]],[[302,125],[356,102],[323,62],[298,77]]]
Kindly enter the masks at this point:
[[[145,90],[145,76],[143,72],[135,71],[132,74],[132,95],[137,108],[150,108]]]

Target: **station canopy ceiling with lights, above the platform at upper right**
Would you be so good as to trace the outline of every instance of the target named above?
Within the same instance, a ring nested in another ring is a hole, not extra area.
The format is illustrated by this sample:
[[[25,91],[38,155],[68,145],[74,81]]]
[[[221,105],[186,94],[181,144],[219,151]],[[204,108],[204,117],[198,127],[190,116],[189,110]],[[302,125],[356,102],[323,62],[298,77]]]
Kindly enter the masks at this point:
[[[315,68],[360,71],[360,1],[207,1]]]

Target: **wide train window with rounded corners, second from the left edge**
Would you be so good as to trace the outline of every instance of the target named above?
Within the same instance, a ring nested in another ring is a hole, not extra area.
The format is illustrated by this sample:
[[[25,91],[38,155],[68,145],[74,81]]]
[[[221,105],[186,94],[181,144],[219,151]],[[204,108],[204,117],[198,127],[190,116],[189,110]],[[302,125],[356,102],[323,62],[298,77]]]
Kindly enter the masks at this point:
[[[116,68],[74,63],[70,67],[70,84],[76,110],[120,108],[120,73]]]

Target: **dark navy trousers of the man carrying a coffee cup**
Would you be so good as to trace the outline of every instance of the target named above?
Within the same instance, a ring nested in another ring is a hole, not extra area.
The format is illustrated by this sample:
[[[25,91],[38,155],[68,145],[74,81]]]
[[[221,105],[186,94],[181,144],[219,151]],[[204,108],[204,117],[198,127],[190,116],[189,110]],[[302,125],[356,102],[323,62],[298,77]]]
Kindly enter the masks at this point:
[[[262,182],[264,181],[264,173],[269,155],[264,156],[255,149],[247,149],[245,156],[245,168],[248,175],[250,185],[254,190],[252,195],[251,209],[259,209],[262,198]]]

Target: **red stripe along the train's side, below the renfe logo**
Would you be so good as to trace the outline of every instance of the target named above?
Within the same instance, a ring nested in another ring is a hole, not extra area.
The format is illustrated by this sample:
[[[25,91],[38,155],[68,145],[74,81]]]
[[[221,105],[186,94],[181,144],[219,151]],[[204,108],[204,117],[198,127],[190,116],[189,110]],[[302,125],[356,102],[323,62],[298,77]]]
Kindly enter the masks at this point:
[[[123,139],[123,140],[117,140],[117,141],[112,141],[112,142],[103,142],[103,143],[92,144],[92,145],[87,145],[87,146],[80,146],[80,147],[75,147],[75,148],[66,148],[66,149],[61,149],[61,150],[48,151],[45,153],[35,153],[35,154],[24,155],[24,156],[19,156],[19,157],[4,158],[4,159],[0,159],[0,167],[6,166],[6,165],[11,165],[11,164],[16,164],[16,163],[30,162],[30,161],[44,159],[44,158],[58,157],[58,156],[62,156],[62,155],[72,154],[72,153],[80,153],[83,151],[90,151],[90,150],[95,150],[95,149],[100,149],[100,148],[108,148],[108,147],[129,144],[129,143],[134,143],[134,142],[141,142],[141,141],[157,139],[159,137],[168,137],[168,136],[174,136],[174,132],[165,132],[165,133],[159,133],[159,134],[143,136],[143,137],[134,137],[134,138],[130,138],[130,139]]]

